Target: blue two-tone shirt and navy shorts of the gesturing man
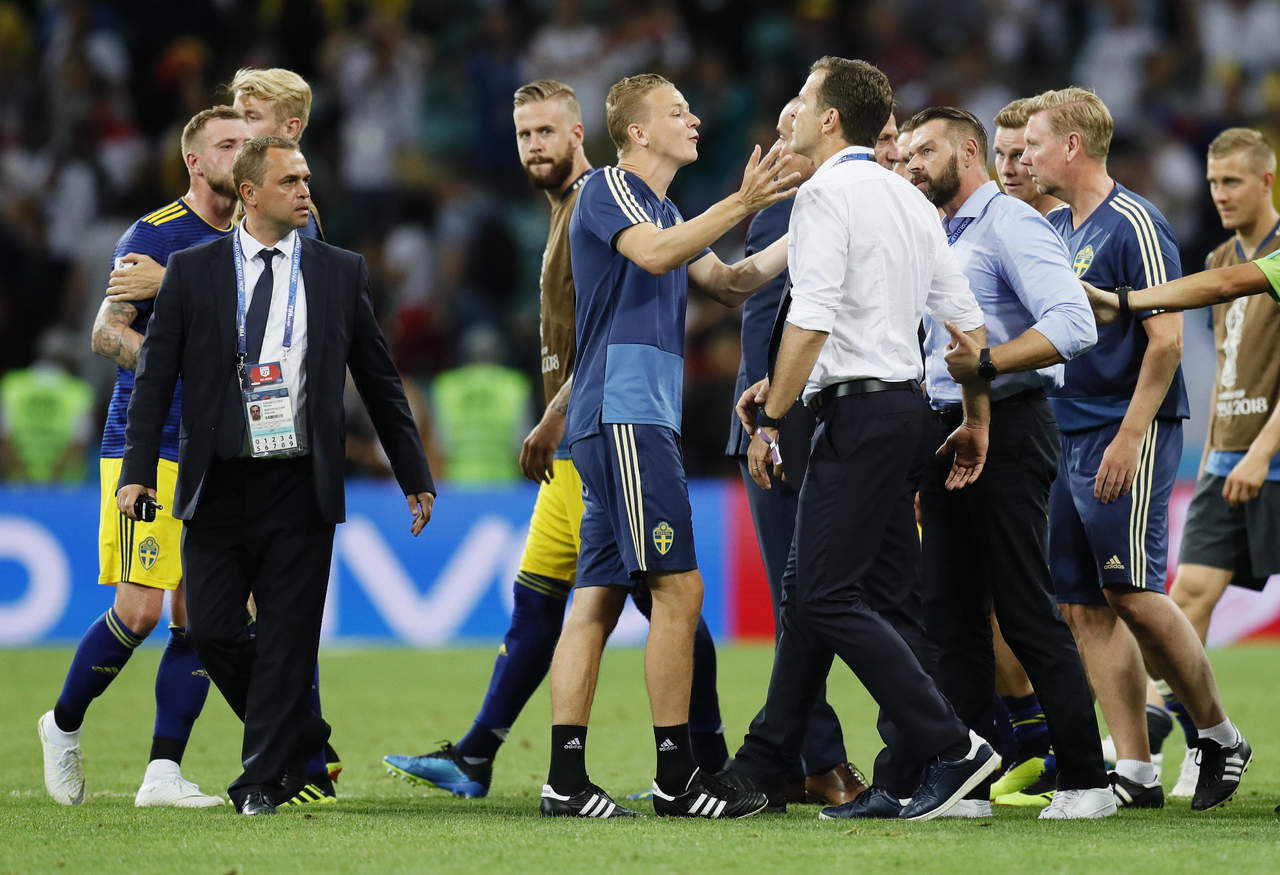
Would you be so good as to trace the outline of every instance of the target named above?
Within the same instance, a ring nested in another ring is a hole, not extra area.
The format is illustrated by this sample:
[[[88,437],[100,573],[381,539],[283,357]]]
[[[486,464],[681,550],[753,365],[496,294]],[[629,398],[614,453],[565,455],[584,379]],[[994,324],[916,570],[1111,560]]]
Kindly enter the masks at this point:
[[[609,166],[582,187],[570,223],[577,367],[566,440],[585,503],[577,586],[698,568],[680,452],[689,267],[654,276],[614,248],[632,225],[681,221],[640,177]]]

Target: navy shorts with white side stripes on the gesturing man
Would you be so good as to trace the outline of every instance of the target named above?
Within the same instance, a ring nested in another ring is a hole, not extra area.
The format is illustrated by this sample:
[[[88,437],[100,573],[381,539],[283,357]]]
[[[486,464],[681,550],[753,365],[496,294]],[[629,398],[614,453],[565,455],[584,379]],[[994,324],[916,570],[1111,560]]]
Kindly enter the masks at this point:
[[[584,504],[577,586],[630,588],[645,573],[698,568],[685,461],[673,430],[605,422],[572,453]]]

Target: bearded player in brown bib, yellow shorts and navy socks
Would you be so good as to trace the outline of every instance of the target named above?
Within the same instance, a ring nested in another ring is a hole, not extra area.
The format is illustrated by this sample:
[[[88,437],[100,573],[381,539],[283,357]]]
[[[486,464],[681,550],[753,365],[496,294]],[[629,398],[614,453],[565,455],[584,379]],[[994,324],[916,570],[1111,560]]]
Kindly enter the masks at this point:
[[[573,587],[582,519],[582,480],[564,444],[575,353],[568,226],[579,193],[594,170],[582,151],[582,113],[570,86],[553,79],[521,86],[513,118],[520,161],[552,207],[540,283],[543,389],[550,400],[520,455],[525,475],[539,484],[538,501],[512,587],[511,627],[470,732],[457,745],[445,743],[424,756],[383,757],[393,775],[467,798],[488,794],[493,760],[550,668]],[[648,594],[637,590],[635,596],[641,613],[648,614]],[[694,652],[699,665],[690,714],[694,759],[718,771],[728,750],[716,696],[716,645],[705,622],[698,624]]]

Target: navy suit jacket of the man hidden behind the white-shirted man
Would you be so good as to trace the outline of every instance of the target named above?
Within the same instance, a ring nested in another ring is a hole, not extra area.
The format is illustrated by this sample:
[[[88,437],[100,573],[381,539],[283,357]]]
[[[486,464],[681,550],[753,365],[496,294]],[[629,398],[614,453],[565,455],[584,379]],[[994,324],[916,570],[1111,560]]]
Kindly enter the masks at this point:
[[[794,206],[795,198],[788,197],[755,214],[746,229],[746,255],[751,256],[769,248],[771,243],[787,233]],[[748,386],[759,382],[769,372],[769,336],[773,333],[773,320],[778,315],[782,293],[790,281],[791,275],[782,271],[756,289],[742,304],[742,361],[737,367],[737,381],[733,384],[730,408],[737,404],[739,397]],[[742,427],[737,413],[730,409],[728,444],[724,446],[724,454],[745,455],[750,443],[751,438]]]

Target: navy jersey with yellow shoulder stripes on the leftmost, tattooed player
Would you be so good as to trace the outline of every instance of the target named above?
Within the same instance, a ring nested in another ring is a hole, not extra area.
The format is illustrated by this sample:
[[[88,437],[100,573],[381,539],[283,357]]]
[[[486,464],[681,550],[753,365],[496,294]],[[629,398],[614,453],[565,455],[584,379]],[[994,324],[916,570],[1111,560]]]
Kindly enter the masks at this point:
[[[178,198],[155,212],[147,214],[129,225],[120,240],[115,244],[114,258],[119,258],[131,252],[155,258],[157,264],[168,265],[169,256],[179,249],[186,249],[200,243],[207,243],[219,237],[225,237],[232,226],[214,228],[207,221],[196,215],[186,201]],[[151,310],[155,299],[131,302],[138,313],[129,327],[140,334],[147,333],[151,321]],[[102,426],[102,458],[118,459],[124,455],[124,425],[129,411],[129,398],[133,395],[133,371],[123,367],[115,368],[115,388],[111,390],[111,403],[106,408],[106,423]],[[174,386],[173,403],[169,406],[169,416],[165,418],[164,431],[160,438],[160,458],[170,462],[178,461],[178,429],[182,414],[182,381]]]

